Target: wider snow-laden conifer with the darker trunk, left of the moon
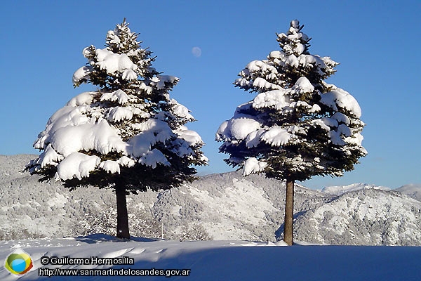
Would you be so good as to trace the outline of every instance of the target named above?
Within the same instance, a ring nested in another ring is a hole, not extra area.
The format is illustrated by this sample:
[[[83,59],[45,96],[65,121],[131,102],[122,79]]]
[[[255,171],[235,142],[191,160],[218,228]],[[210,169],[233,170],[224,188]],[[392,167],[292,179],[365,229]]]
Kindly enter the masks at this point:
[[[79,94],[54,113],[34,143],[44,150],[27,164],[32,174],[55,178],[70,189],[114,188],[117,237],[129,238],[126,194],[168,189],[192,181],[194,165],[207,162],[187,107],[171,99],[177,77],[152,67],[155,58],[140,48],[126,20],[107,33],[106,48],[83,50],[86,66],[74,86],[98,91]]]

